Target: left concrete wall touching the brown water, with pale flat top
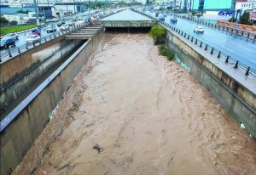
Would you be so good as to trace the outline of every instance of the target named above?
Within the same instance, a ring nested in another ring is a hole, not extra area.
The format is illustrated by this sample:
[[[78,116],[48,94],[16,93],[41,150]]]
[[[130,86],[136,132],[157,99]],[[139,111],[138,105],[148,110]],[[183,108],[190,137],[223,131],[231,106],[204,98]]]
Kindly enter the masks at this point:
[[[102,37],[103,31],[85,42],[7,116],[9,120],[1,121],[1,174],[15,170]]]

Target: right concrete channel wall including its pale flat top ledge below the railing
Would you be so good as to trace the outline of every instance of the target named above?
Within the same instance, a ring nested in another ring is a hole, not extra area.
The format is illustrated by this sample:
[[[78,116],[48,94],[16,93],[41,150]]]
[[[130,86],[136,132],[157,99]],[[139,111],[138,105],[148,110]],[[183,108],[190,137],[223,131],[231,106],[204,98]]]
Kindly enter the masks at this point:
[[[167,45],[177,53],[177,61],[195,76],[232,117],[256,138],[256,76],[225,64],[174,31],[167,30]]]

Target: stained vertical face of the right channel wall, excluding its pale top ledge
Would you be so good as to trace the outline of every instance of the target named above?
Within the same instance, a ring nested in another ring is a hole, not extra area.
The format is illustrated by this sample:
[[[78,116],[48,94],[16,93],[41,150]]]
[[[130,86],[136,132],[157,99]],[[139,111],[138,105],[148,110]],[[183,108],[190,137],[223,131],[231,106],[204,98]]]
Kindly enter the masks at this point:
[[[167,30],[167,46],[177,54],[179,64],[189,70],[248,133],[256,138],[256,95],[240,82],[212,64],[205,55],[191,48],[187,42]]]

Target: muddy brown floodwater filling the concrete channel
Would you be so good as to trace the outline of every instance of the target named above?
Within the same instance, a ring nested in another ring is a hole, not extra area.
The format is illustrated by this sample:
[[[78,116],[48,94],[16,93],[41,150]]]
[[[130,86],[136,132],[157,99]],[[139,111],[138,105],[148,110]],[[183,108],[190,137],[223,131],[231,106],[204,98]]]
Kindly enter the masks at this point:
[[[256,143],[145,34],[106,34],[14,174],[255,174]]]

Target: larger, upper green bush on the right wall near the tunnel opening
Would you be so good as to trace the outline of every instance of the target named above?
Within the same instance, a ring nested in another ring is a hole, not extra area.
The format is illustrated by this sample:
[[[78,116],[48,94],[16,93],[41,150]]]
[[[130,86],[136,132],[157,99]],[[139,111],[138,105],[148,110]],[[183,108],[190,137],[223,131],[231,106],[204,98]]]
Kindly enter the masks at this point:
[[[154,44],[161,44],[166,41],[166,28],[160,25],[154,25],[148,33],[152,37]]]

